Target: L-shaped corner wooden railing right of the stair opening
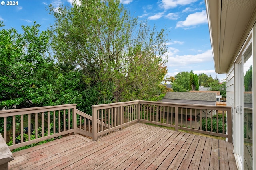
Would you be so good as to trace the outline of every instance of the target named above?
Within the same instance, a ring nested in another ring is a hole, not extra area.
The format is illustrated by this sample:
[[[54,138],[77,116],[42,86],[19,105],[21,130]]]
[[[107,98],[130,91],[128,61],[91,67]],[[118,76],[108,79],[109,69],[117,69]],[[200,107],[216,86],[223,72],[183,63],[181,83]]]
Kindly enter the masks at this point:
[[[97,123],[99,120],[112,126],[100,127]],[[226,137],[232,142],[231,107],[142,100],[92,106],[93,140],[116,129],[122,130],[125,125],[140,121],[173,127],[176,131],[183,129]]]

